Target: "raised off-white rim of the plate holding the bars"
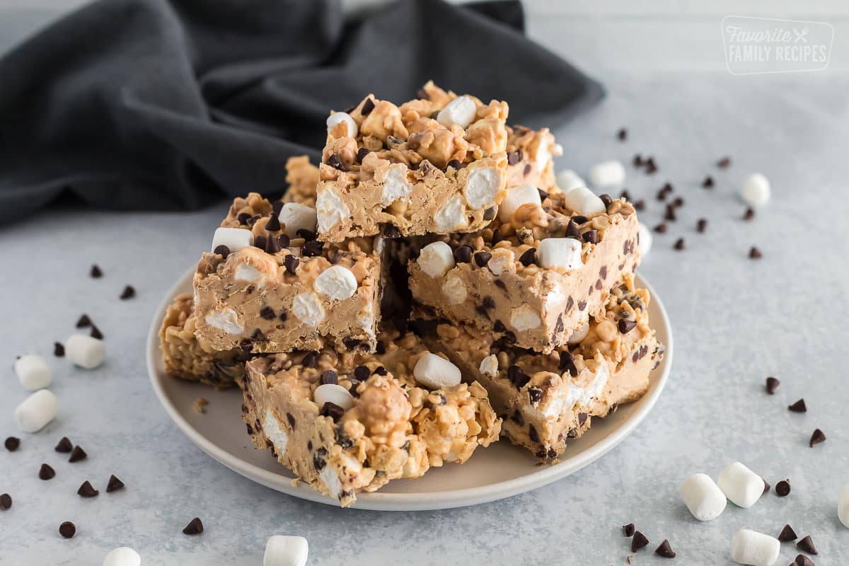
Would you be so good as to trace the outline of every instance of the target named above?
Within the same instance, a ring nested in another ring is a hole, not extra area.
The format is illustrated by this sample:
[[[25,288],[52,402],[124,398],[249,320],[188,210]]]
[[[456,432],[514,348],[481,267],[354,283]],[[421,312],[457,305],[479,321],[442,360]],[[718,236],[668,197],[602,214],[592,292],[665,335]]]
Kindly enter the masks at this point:
[[[266,469],[259,468],[255,464],[245,462],[239,457],[234,456],[230,452],[216,446],[214,442],[207,439],[200,431],[194,429],[191,423],[186,420],[177,407],[171,403],[166,391],[160,384],[160,374],[157,371],[156,365],[159,356],[161,355],[159,345],[159,329],[168,305],[177,294],[180,294],[181,289],[187,281],[193,277],[194,269],[189,269],[182,277],[177,279],[177,282],[171,285],[166,296],[160,301],[160,305],[154,313],[153,320],[148,330],[148,337],[145,344],[145,361],[147,363],[148,378],[153,386],[154,392],[160,405],[165,409],[166,414],[171,417],[171,421],[177,425],[177,429],[188,437],[195,446],[198,446],[201,451],[216,462],[221,463],[226,468],[229,468],[236,474],[239,474],[246,479],[250,479],[258,484],[264,485],[269,489],[285,493],[286,495],[295,496],[311,502],[323,503],[339,507],[339,502],[329,496],[323,496],[318,491],[305,482],[299,482],[294,479],[286,478],[280,474],[275,474]],[[563,462],[559,462],[552,466],[539,467],[531,474],[526,474],[518,478],[506,479],[494,484],[481,485],[477,487],[466,487],[456,490],[446,491],[430,491],[425,493],[381,493],[373,491],[368,493],[357,494],[357,502],[351,505],[351,508],[366,509],[374,511],[434,511],[438,509],[448,509],[453,507],[468,507],[486,502],[493,502],[499,499],[519,495],[526,491],[536,490],[544,485],[551,484],[558,479],[563,479],[568,475],[586,468],[593,462],[603,457],[607,452],[621,444],[623,440],[629,436],[640,423],[642,423],[654,408],[655,403],[660,398],[663,389],[666,388],[666,382],[672,371],[673,357],[673,339],[672,325],[669,321],[669,316],[666,308],[663,305],[660,297],[655,293],[655,289],[651,284],[642,277],[641,274],[635,273],[635,283],[649,291],[652,301],[655,302],[658,311],[661,314],[661,323],[666,329],[666,352],[661,361],[661,374],[656,378],[654,388],[650,388],[649,392],[644,395],[640,401],[642,405],[634,412],[633,416],[628,417],[616,429],[599,440],[595,445],[588,449],[570,457]],[[280,479],[285,481],[281,482]]]

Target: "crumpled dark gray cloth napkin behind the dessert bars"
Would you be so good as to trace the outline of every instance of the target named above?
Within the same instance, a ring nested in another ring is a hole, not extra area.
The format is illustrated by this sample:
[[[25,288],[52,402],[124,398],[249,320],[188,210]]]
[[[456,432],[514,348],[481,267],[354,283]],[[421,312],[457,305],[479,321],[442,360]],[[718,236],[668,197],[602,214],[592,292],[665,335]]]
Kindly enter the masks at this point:
[[[526,126],[604,95],[523,31],[519,2],[403,0],[348,23],[339,0],[89,4],[0,59],[0,209],[277,195],[287,157],[318,156],[330,109],[408,100],[429,79],[507,100]]]

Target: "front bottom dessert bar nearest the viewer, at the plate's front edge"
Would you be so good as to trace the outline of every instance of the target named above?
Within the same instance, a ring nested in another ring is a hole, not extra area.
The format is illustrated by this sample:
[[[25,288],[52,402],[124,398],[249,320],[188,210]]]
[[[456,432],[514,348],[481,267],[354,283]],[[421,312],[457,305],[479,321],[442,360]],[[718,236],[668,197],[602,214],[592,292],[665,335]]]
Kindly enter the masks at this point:
[[[480,384],[421,384],[433,363],[413,333],[381,342],[382,355],[325,347],[246,367],[243,418],[254,444],[343,506],[391,479],[465,462],[501,428]]]

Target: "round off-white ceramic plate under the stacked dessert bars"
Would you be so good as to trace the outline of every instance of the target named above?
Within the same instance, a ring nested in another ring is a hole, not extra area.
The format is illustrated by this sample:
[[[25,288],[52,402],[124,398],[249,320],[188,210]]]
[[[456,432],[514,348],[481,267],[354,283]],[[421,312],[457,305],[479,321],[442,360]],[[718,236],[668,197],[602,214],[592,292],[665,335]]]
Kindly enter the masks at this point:
[[[620,406],[609,417],[593,419],[593,428],[581,439],[570,443],[558,464],[539,466],[529,451],[500,441],[487,448],[478,448],[462,467],[447,464],[442,468],[430,468],[422,478],[396,479],[380,491],[357,494],[354,507],[417,511],[491,502],[564,478],[604,456],[624,440],[655,405],[672,367],[672,328],[666,311],[649,283],[639,276],[636,281],[638,286],[649,289],[651,293],[650,320],[658,339],[666,345],[666,356],[651,374],[649,391],[640,400]],[[166,375],[157,333],[173,297],[190,292],[191,286],[192,272],[188,272],[162,301],[148,335],[150,383],[168,415],[201,450],[237,474],[290,496],[339,505],[309,485],[292,485],[294,476],[278,464],[271,451],[254,448],[242,423],[242,394],[239,390],[216,391]],[[200,396],[210,401],[205,415],[198,414],[193,408],[194,400]]]

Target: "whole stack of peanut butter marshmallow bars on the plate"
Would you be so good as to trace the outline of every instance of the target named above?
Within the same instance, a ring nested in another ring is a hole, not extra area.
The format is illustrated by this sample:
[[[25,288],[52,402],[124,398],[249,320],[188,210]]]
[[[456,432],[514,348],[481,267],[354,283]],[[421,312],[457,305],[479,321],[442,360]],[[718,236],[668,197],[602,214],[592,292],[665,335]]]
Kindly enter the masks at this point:
[[[663,349],[633,206],[561,191],[554,137],[508,112],[428,83],[332,113],[282,199],[233,201],[166,314],[167,371],[238,385],[254,444],[342,505],[499,436],[556,462]]]

